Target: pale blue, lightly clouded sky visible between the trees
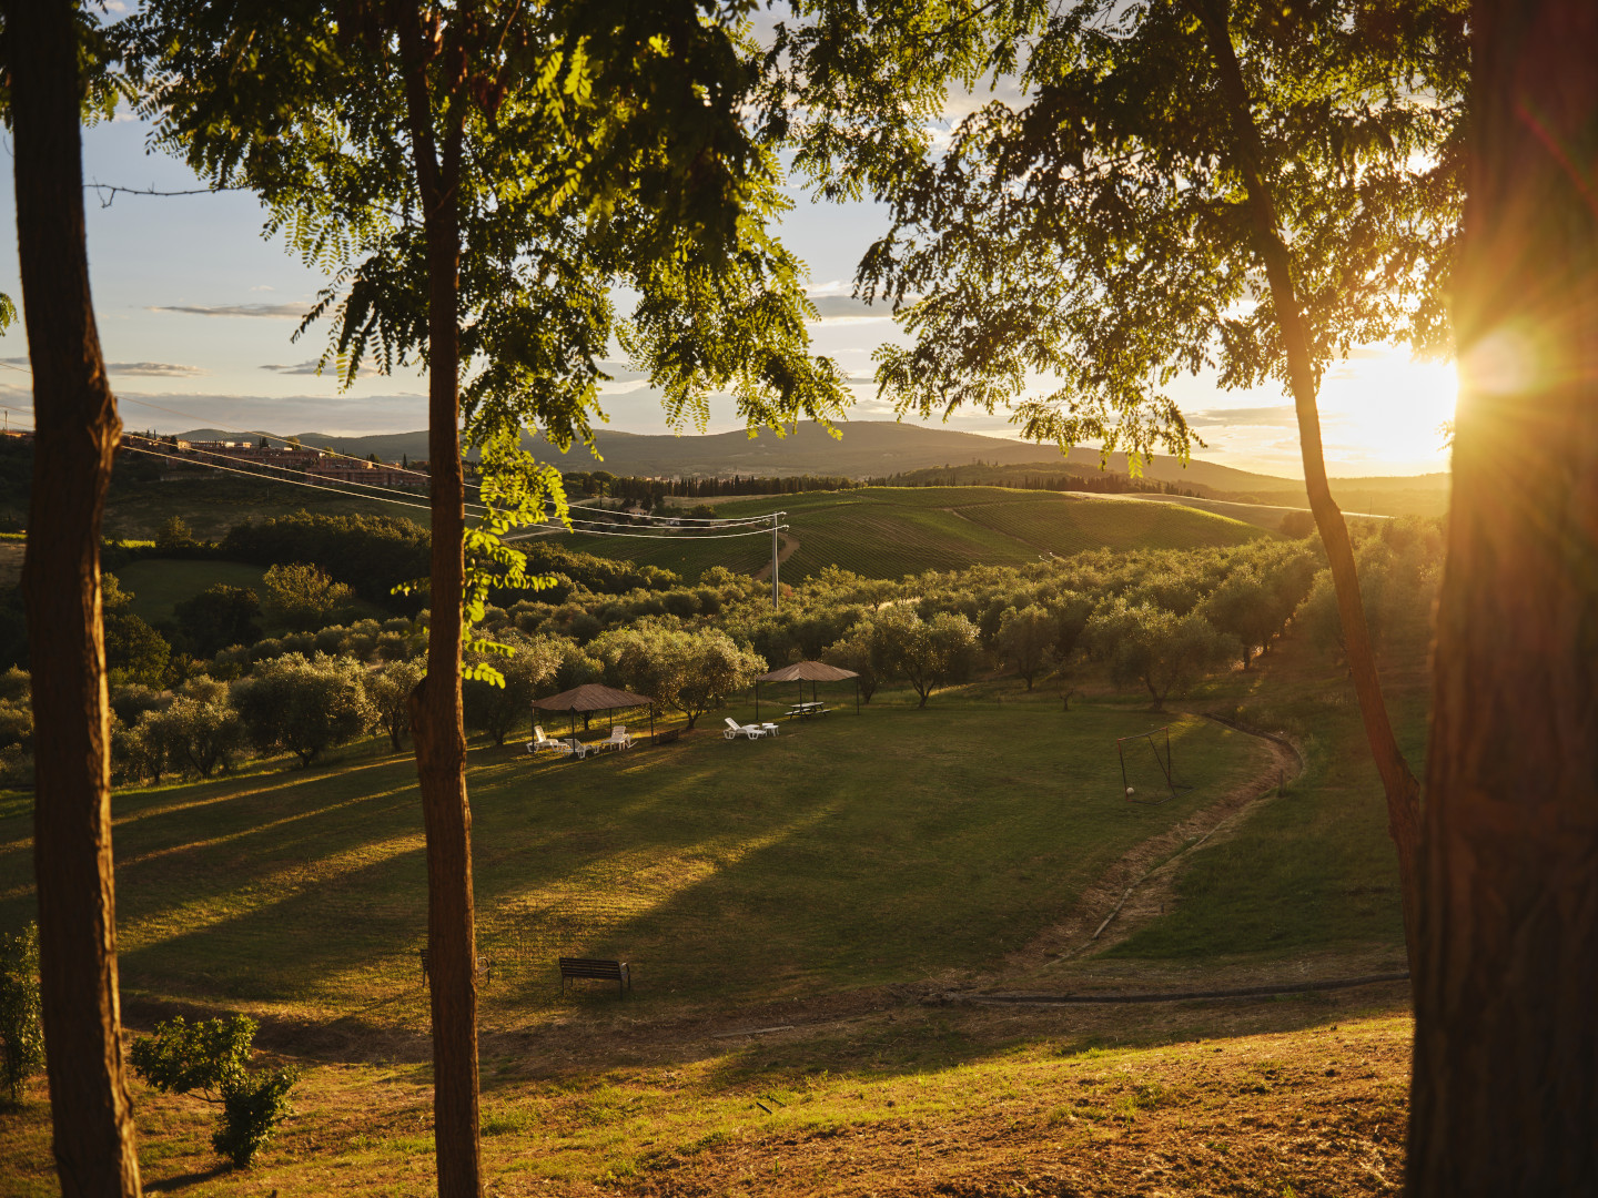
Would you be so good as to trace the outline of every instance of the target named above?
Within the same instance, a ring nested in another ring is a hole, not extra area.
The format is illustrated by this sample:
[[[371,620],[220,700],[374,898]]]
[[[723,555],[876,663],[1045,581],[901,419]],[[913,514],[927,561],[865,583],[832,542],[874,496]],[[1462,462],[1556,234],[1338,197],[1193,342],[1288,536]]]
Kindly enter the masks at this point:
[[[149,126],[120,117],[83,131],[88,182],[152,190],[200,187],[169,157],[147,152]],[[10,144],[6,161],[10,161]],[[8,169],[8,168],[6,168]],[[876,204],[812,203],[797,188],[783,224],[785,243],[809,264],[821,319],[817,351],[852,377],[855,420],[890,420],[877,399],[871,351],[901,342],[892,316],[850,297],[855,264],[885,232]],[[109,203],[107,203],[109,200]],[[299,316],[324,276],[265,240],[265,212],[249,193],[102,196],[89,190],[88,251],[101,343],[131,430],[197,426],[294,433],[398,433],[427,425],[425,380],[414,372],[368,375],[342,391],[315,363],[326,326],[297,342]],[[0,219],[14,228],[10,180]],[[0,291],[21,297],[14,241],[0,249]],[[609,428],[670,431],[658,396],[615,363],[602,399]],[[0,337],[0,406],[30,406],[27,345],[21,326]],[[1325,452],[1334,476],[1417,474],[1446,470],[1437,426],[1453,411],[1449,364],[1414,363],[1406,350],[1365,347],[1334,367],[1322,387]],[[1301,478],[1293,407],[1275,385],[1222,391],[1213,375],[1170,387],[1206,447],[1195,457],[1238,470]],[[713,401],[706,431],[738,426],[730,401]],[[1004,412],[957,414],[949,428],[1018,438]],[[844,426],[847,438],[847,425]],[[580,468],[574,463],[574,468]]]

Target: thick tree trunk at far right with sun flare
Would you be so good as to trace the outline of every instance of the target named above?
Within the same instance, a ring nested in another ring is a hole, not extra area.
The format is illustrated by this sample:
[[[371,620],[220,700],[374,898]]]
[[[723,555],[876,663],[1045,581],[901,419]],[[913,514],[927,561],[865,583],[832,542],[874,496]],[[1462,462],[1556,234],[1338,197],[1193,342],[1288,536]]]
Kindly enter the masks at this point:
[[[1598,8],[1477,0],[1411,1195],[1598,1193]]]

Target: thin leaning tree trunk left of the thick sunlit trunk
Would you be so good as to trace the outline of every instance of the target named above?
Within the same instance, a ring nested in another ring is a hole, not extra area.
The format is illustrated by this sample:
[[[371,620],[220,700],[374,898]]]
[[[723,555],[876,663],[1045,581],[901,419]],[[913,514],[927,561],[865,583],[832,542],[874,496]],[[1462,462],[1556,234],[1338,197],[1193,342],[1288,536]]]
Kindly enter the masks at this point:
[[[1326,546],[1326,562],[1331,567],[1331,581],[1338,594],[1342,642],[1349,657],[1349,672],[1354,676],[1354,692],[1360,700],[1365,740],[1371,746],[1376,772],[1381,775],[1382,789],[1387,794],[1387,832],[1398,850],[1405,946],[1413,976],[1421,941],[1421,784],[1398,749],[1398,738],[1393,736],[1387,701],[1382,698],[1381,679],[1376,672],[1376,652],[1365,623],[1365,605],[1360,601],[1354,543],[1349,540],[1349,526],[1331,498],[1331,484],[1326,479],[1326,458],[1320,439],[1320,409],[1317,407],[1320,380],[1309,353],[1304,315],[1293,286],[1293,256],[1283,243],[1277,224],[1277,206],[1270,190],[1264,145],[1259,139],[1259,129],[1254,126],[1248,86],[1232,46],[1227,0],[1194,0],[1194,3],[1210,43],[1210,53],[1214,56],[1221,96],[1227,107],[1232,134],[1237,139],[1238,166],[1248,190],[1254,241],[1259,257],[1266,264],[1270,299],[1275,303],[1282,343],[1288,358],[1288,379],[1293,387],[1293,407],[1299,426],[1299,452],[1304,458],[1304,487],[1309,492],[1309,506],[1315,516],[1322,545]]]

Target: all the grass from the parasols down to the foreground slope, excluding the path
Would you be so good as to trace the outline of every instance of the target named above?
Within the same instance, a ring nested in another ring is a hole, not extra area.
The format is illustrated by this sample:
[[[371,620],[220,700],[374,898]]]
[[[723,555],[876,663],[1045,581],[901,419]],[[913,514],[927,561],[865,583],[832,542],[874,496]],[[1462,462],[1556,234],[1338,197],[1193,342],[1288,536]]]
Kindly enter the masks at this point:
[[[1417,756],[1419,650],[1395,653],[1384,682]],[[1401,984],[1063,1010],[860,990],[1013,966],[1120,853],[1266,760],[1254,738],[1088,692],[1071,712],[1013,679],[925,711],[890,692],[775,741],[702,728],[586,762],[476,748],[479,934],[503,966],[481,1021],[487,1190],[1390,1193]],[[1082,968],[1146,979],[1229,960],[1298,978],[1328,949],[1401,960],[1381,791],[1342,671],[1290,641],[1184,706],[1288,732],[1307,770],[1183,856],[1175,906]],[[1130,805],[1114,738],[1163,722],[1195,789]],[[29,803],[0,799],[0,926],[32,909]],[[248,1011],[264,1048],[305,1067],[299,1113],[248,1172],[217,1168],[205,1104],[134,1083],[147,1184],[431,1193],[409,757],[368,743],[326,768],[123,792],[115,819],[129,1022]],[[561,952],[625,955],[636,994],[562,998]],[[0,1115],[0,1174],[6,1193],[58,1193],[40,1081]]]

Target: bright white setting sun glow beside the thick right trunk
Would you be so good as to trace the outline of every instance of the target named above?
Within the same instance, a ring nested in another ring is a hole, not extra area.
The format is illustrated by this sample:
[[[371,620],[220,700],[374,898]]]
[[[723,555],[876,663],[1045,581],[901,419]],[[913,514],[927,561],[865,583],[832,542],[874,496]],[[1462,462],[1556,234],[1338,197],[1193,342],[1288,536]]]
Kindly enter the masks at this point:
[[[1453,363],[1416,361],[1400,347],[1358,350],[1320,388],[1326,457],[1358,473],[1448,470],[1440,425],[1454,419]]]

